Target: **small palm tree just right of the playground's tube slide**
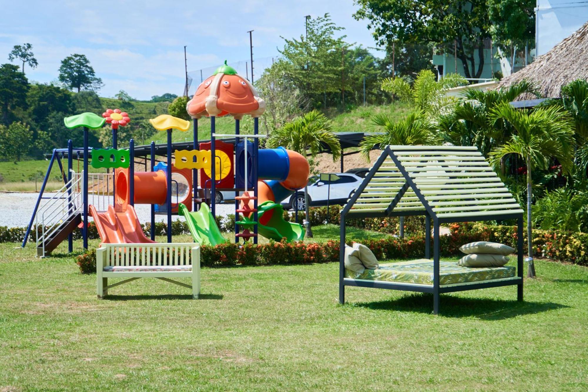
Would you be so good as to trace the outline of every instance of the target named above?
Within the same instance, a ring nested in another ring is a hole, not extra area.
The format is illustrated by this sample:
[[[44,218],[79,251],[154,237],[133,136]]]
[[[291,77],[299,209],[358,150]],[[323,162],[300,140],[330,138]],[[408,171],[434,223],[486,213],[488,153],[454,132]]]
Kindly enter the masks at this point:
[[[326,144],[333,155],[333,162],[336,162],[341,157],[341,145],[339,139],[331,131],[332,128],[333,122],[322,112],[315,109],[301,117],[296,117],[290,122],[286,122],[282,128],[273,131],[267,145],[269,148],[279,146],[289,148],[304,156],[310,153],[310,156],[314,159],[321,151],[321,145]],[[304,187],[304,197],[306,237],[312,238],[308,212],[308,185]],[[298,209],[298,205],[296,205],[296,209]]]

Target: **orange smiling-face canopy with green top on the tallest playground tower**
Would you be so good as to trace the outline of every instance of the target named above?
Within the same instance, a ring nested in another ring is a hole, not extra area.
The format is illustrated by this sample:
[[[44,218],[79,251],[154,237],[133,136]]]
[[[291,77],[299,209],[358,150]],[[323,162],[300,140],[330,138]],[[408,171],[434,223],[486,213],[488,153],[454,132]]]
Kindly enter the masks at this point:
[[[264,110],[265,101],[259,98],[253,85],[240,77],[235,68],[226,65],[226,61],[198,86],[186,104],[186,111],[192,118],[227,114],[236,119],[243,118],[245,114],[259,117]]]

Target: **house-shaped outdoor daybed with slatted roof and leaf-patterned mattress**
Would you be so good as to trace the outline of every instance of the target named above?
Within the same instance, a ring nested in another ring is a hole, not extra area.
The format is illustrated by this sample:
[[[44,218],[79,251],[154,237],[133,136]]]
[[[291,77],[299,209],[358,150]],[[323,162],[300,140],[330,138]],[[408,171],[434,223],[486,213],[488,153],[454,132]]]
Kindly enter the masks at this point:
[[[407,215],[425,215],[425,259],[380,264],[362,274],[346,270],[346,218]],[[440,260],[440,224],[506,219],[517,220],[516,267],[470,268]],[[453,291],[517,285],[517,300],[523,300],[523,210],[476,147],[387,146],[341,211],[340,228],[339,303],[345,303],[345,286],[432,293],[435,314],[439,295]]]

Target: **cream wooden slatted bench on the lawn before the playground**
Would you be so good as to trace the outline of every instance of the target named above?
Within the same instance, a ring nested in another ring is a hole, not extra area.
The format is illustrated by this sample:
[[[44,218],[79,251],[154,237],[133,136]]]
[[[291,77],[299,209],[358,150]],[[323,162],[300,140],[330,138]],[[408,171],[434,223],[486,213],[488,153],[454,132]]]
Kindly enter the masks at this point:
[[[192,285],[170,278],[191,277]],[[108,278],[126,278],[108,285]],[[140,278],[157,278],[200,294],[200,244],[102,244],[96,250],[96,293]]]

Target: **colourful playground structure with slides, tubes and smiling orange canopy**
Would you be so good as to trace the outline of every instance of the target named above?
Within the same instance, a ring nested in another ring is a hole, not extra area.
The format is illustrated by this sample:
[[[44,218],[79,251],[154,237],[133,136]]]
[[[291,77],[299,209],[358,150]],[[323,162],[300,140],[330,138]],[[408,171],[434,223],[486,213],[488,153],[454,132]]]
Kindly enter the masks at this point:
[[[108,109],[99,117],[83,113],[66,117],[69,129],[82,128],[83,148],[55,149],[42,184],[22,247],[35,228],[38,255],[44,257],[68,238],[72,251],[72,234],[80,228],[83,247],[88,248],[88,217],[95,222],[103,244],[155,242],[155,215],[167,215],[168,227],[172,214],[186,218],[196,242],[216,245],[227,240],[220,234],[215,220],[216,191],[236,192],[235,242],[257,242],[258,234],[273,240],[301,240],[301,225],[283,220],[280,201],[306,185],[309,164],[306,158],[285,148],[259,149],[259,116],[265,102],[255,88],[228,65],[219,67],[214,75],[199,85],[186,111],[193,119],[192,150],[172,150],[172,130],[188,131],[190,122],[171,115],[150,119],[151,125],[167,132],[166,162],[155,163],[155,142],[151,142],[151,170],[135,171],[135,143],[117,148],[117,129],[131,119],[119,109]],[[215,118],[235,118],[235,134],[217,134]],[[253,117],[253,135],[241,135],[239,121],[244,115]],[[198,141],[198,120],[211,119],[211,140]],[[112,127],[112,148],[91,148],[89,129]],[[222,138],[236,138],[232,145]],[[83,170],[75,172],[74,155],[83,160]],[[172,161],[175,155],[175,161]],[[67,157],[67,172],[62,160]],[[213,159],[214,158],[214,159]],[[263,164],[259,165],[259,161]],[[54,162],[64,174],[64,187],[55,195],[45,197],[45,185]],[[213,164],[214,162],[214,164]],[[90,173],[105,168],[106,173]],[[112,171],[111,171],[112,169]],[[66,173],[66,174],[65,174]],[[92,198],[92,200],[90,200]],[[48,200],[42,205],[42,200]],[[151,205],[151,238],[143,234],[135,212],[135,204]],[[167,242],[172,242],[167,230]]]

